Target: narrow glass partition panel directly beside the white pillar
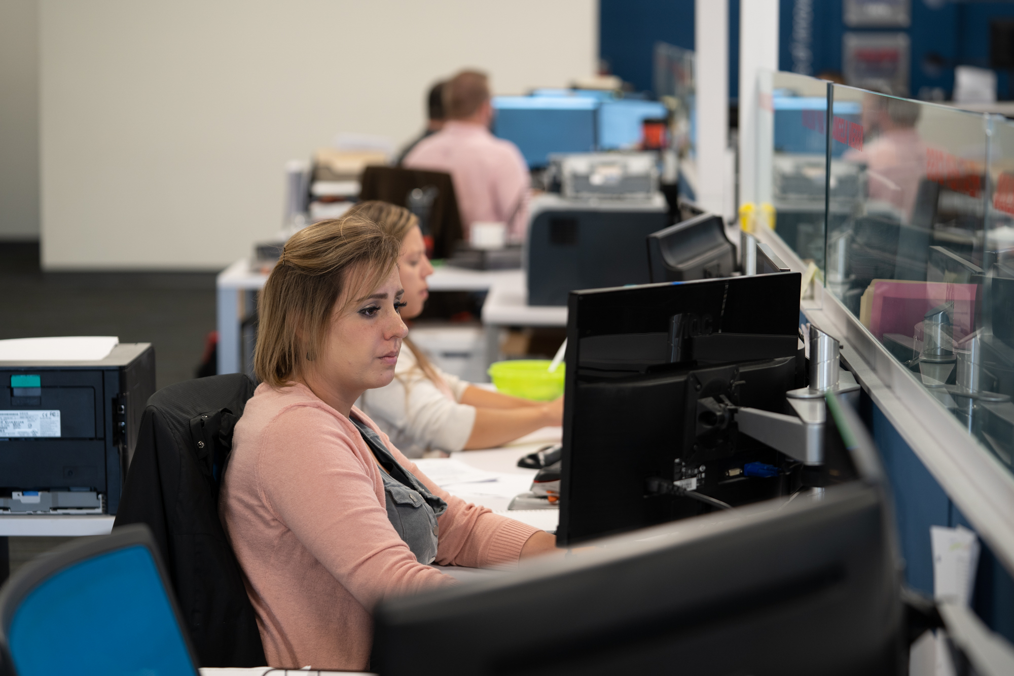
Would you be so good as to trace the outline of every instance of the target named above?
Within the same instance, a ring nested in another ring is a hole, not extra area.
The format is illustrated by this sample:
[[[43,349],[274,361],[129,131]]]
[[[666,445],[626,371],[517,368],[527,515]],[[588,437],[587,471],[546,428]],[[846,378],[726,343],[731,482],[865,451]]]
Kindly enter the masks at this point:
[[[775,208],[775,231],[804,262],[823,269],[827,83],[760,73],[756,201]]]

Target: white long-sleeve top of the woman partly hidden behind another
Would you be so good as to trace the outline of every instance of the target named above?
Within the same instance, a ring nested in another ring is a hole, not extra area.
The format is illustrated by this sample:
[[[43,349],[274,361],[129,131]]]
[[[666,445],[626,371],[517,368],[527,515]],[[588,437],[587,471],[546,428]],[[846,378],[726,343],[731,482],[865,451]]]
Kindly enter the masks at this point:
[[[409,458],[431,449],[460,451],[476,423],[475,406],[460,403],[469,383],[433,369],[446,387],[427,378],[416,355],[403,346],[390,384],[367,390],[357,403]]]

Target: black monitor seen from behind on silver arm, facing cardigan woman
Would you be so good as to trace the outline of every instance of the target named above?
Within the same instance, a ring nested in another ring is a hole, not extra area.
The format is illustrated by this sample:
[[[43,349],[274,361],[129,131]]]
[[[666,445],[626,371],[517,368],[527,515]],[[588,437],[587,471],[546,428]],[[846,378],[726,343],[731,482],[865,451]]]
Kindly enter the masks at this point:
[[[800,485],[799,463],[702,417],[702,400],[722,397],[783,413],[785,393],[805,385],[799,285],[781,273],[570,293],[558,541],[710,509],[646,496],[651,479],[733,506]]]

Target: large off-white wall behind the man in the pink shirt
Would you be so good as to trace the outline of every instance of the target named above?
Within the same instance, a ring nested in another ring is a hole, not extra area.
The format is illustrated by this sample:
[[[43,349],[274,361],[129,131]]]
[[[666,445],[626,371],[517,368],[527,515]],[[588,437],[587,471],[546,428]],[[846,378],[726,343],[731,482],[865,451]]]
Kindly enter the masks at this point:
[[[283,165],[411,138],[438,77],[597,61],[595,0],[41,0],[46,269],[215,269],[281,225]]]

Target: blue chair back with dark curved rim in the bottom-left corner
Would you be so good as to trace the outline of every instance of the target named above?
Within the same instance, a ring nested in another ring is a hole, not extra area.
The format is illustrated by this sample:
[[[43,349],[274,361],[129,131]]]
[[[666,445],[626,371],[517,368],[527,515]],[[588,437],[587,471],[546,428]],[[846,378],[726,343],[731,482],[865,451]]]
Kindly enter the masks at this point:
[[[147,526],[81,538],[0,589],[0,652],[18,676],[197,676]]]

